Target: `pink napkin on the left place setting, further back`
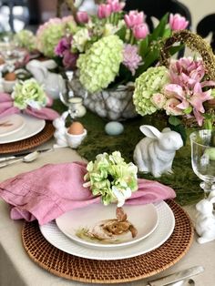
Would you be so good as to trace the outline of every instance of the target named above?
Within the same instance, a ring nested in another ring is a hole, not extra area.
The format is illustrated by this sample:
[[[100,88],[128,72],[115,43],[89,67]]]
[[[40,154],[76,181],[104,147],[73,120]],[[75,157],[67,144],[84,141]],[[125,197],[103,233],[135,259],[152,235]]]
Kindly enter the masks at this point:
[[[51,107],[53,104],[52,98],[48,97],[48,104],[46,107],[40,109],[27,107],[25,110],[22,110],[24,114],[45,119],[45,120],[54,120],[56,117],[59,117],[58,113],[48,107]],[[21,110],[18,107],[14,106],[13,99],[9,94],[0,93],[0,117],[5,117],[11,114],[20,113]]]

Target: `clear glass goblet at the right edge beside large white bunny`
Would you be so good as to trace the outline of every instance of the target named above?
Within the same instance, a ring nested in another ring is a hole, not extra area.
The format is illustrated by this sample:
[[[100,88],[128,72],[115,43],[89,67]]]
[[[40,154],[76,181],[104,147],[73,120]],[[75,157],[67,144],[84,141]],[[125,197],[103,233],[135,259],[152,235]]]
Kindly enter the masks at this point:
[[[215,189],[215,133],[210,129],[190,134],[191,164],[194,173],[203,180],[205,195]]]

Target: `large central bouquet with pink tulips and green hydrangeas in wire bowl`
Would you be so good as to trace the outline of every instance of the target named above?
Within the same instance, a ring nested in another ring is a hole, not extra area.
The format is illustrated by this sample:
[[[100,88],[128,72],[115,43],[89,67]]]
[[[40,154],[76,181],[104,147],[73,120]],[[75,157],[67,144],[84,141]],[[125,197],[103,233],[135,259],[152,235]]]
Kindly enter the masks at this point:
[[[81,84],[91,93],[134,82],[158,62],[162,41],[171,31],[189,23],[180,15],[164,15],[149,33],[144,13],[126,14],[124,5],[107,0],[97,5],[97,15],[76,11],[74,6],[73,15],[39,27],[37,48],[45,56],[61,59],[66,68],[78,69]]]

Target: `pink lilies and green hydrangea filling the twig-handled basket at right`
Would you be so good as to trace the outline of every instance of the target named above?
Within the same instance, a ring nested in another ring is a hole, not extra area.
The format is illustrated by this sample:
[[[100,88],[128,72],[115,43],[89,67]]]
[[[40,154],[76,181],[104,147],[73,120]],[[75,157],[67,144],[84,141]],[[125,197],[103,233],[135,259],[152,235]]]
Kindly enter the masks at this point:
[[[205,114],[204,103],[215,98],[215,81],[207,80],[202,59],[180,58],[166,66],[149,67],[136,79],[133,95],[138,114],[145,116],[165,110],[169,123],[179,123],[176,117],[195,117],[199,126]]]

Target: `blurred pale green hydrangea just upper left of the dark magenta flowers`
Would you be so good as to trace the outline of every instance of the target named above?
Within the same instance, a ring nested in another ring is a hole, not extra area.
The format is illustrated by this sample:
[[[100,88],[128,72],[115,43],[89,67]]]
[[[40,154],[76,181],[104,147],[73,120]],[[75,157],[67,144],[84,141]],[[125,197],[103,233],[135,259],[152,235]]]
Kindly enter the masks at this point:
[[[45,56],[56,56],[55,47],[64,35],[65,24],[63,22],[58,21],[50,24],[47,22],[36,35],[38,50]]]

